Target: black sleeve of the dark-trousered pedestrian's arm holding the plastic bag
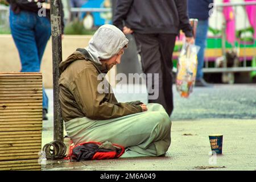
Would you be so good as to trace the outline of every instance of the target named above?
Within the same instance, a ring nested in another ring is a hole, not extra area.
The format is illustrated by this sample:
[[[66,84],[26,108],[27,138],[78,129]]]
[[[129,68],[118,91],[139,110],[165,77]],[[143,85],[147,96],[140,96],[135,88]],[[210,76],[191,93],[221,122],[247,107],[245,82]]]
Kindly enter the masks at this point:
[[[184,32],[185,36],[192,37],[192,27],[188,18],[188,2],[187,0],[175,0],[177,11],[180,19],[180,29]]]

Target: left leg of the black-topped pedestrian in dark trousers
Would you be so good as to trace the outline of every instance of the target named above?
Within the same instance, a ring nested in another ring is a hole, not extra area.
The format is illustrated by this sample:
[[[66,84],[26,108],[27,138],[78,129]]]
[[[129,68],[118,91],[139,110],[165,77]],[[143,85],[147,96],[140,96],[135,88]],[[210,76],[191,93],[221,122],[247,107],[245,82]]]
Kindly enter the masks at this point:
[[[148,103],[158,103],[167,109],[158,35],[134,33],[134,38],[138,53],[141,55],[142,71],[146,74]]]

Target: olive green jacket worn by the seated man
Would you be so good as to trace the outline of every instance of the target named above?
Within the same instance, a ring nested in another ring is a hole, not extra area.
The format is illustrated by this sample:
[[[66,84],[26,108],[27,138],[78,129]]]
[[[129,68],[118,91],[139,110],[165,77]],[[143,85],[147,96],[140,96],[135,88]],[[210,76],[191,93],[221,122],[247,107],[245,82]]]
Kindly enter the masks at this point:
[[[142,112],[140,101],[120,103],[113,93],[98,92],[102,81],[97,77],[108,70],[93,62],[85,49],[77,49],[59,68],[59,98],[65,122],[82,117],[111,119]]]

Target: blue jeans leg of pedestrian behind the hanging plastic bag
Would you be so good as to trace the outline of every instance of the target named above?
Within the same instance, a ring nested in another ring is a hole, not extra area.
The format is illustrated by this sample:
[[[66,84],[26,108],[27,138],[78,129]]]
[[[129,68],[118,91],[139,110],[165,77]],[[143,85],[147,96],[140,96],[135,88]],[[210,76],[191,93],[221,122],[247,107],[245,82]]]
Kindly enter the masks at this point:
[[[200,50],[197,54],[198,65],[196,80],[203,78],[203,67],[204,67],[204,52],[207,45],[207,32],[209,28],[209,20],[199,20],[196,31],[196,46],[200,46]]]

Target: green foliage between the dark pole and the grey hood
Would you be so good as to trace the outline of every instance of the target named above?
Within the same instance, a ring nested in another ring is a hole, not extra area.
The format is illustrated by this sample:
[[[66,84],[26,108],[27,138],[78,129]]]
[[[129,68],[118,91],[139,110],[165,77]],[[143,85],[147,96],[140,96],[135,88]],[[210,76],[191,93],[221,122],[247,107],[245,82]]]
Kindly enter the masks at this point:
[[[85,30],[79,19],[73,20],[65,26],[65,35],[93,35],[96,30]]]

